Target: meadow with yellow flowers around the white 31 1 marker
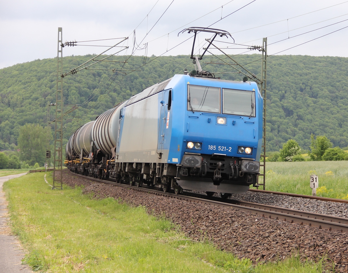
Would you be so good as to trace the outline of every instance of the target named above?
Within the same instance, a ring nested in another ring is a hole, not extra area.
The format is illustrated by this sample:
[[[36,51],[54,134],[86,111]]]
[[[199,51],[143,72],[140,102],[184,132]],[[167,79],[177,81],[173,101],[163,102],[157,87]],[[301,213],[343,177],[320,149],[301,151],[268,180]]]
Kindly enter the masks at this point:
[[[267,162],[266,190],[311,195],[311,174],[318,175],[317,195],[348,199],[348,161]]]

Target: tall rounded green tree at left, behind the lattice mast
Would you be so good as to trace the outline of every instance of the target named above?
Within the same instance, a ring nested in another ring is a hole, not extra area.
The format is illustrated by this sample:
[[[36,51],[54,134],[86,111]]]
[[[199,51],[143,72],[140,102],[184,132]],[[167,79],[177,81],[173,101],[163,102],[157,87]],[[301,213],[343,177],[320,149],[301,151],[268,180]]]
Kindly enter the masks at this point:
[[[46,130],[35,124],[26,124],[19,128],[18,146],[21,159],[30,166],[35,162],[44,165],[46,156]]]

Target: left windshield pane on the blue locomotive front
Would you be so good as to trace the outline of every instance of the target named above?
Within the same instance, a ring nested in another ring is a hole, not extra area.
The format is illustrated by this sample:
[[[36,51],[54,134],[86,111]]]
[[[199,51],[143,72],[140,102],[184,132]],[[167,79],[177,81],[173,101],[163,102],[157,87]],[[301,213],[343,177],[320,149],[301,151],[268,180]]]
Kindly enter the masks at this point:
[[[187,110],[220,113],[220,88],[189,85]]]

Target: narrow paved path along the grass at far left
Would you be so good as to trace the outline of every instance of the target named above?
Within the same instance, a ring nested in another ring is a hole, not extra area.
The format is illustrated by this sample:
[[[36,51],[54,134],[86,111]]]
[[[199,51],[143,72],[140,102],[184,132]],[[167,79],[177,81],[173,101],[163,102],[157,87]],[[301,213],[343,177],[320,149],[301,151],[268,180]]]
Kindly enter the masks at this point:
[[[7,202],[5,193],[2,191],[4,182],[25,174],[26,172],[0,177],[0,273],[32,272],[27,265],[22,265],[21,260],[24,258],[24,251],[21,244],[15,236],[9,235]]]

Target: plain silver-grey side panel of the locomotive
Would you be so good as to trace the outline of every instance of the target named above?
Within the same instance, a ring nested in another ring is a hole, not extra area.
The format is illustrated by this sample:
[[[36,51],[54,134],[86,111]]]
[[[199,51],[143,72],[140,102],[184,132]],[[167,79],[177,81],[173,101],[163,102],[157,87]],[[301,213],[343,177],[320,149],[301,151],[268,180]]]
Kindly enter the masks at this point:
[[[158,141],[160,113],[165,105],[160,101],[163,91],[146,97],[122,109],[122,128],[119,139],[119,162],[166,163],[168,150],[159,159]],[[161,132],[160,132],[161,133]]]

